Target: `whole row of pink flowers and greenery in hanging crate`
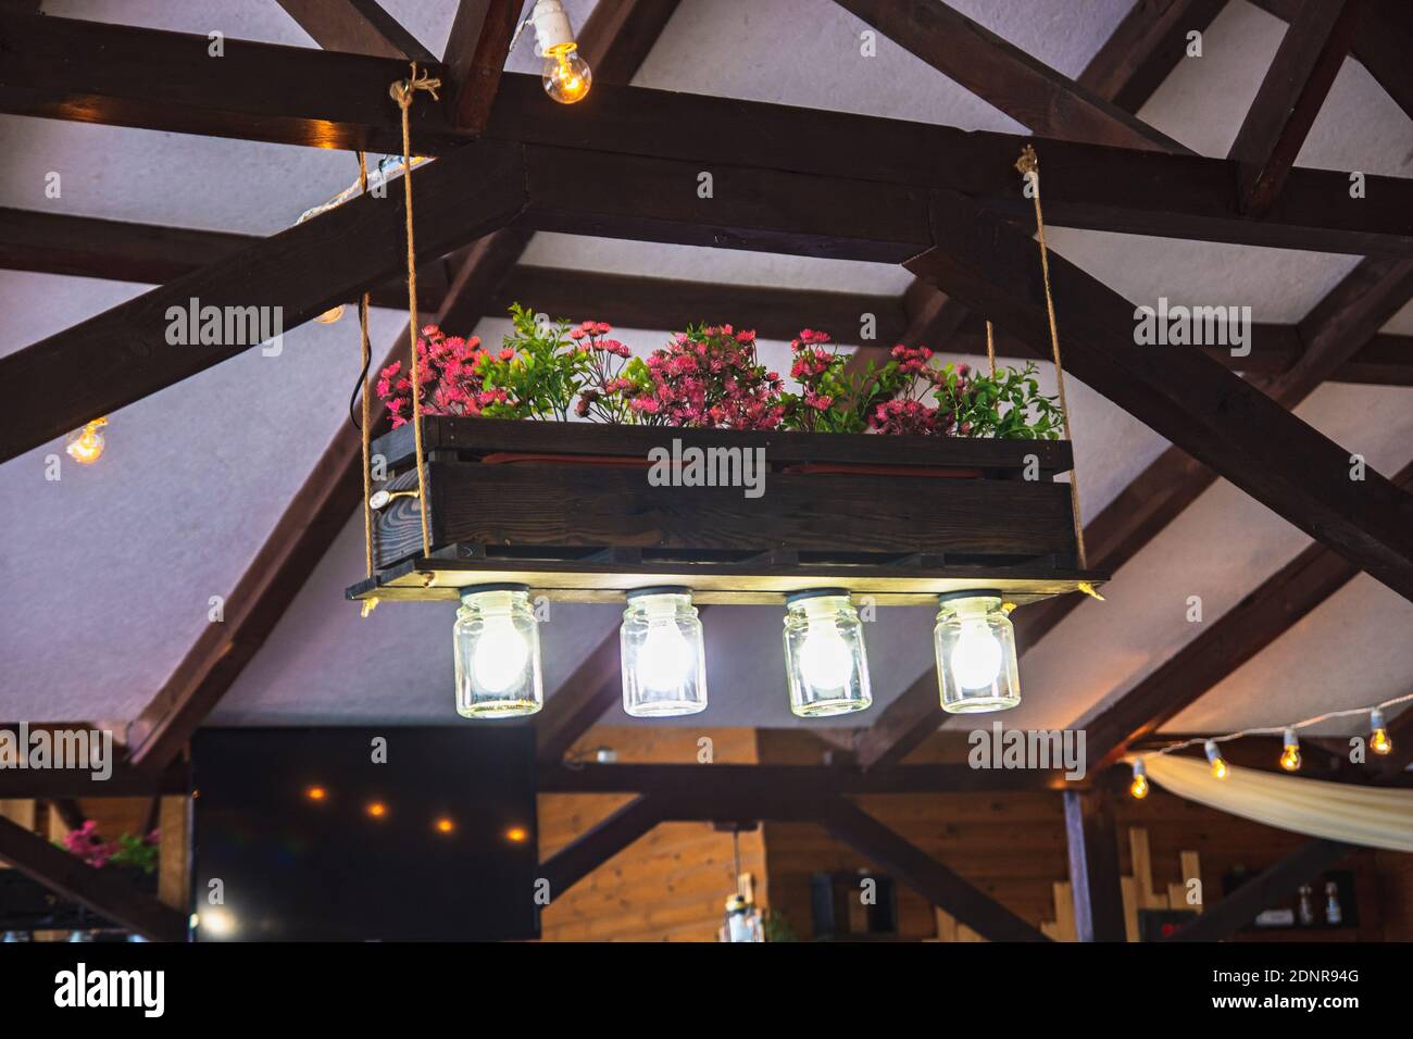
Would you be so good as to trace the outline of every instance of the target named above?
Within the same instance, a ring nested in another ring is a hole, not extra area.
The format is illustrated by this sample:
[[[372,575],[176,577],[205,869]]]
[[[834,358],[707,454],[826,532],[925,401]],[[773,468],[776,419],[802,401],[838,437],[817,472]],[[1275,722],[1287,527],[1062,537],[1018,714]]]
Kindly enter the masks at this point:
[[[933,365],[926,346],[894,346],[886,363],[851,372],[828,334],[804,329],[790,344],[793,392],[760,363],[756,334],[731,325],[691,327],[637,358],[602,321],[544,324],[519,304],[510,317],[513,329],[496,351],[475,336],[422,328],[425,414],[1027,440],[1057,440],[1063,428],[1033,363],[988,375]],[[382,370],[377,396],[393,428],[411,420],[403,362]]]

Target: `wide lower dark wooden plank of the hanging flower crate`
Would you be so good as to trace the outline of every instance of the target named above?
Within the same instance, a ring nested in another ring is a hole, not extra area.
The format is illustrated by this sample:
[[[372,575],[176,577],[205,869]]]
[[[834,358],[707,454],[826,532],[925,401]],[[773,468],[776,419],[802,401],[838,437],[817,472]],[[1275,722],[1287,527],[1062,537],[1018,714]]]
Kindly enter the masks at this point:
[[[390,486],[414,486],[407,472]],[[637,547],[862,554],[1071,556],[1068,483],[769,474],[743,488],[650,486],[646,468],[434,461],[432,547]],[[421,553],[417,503],[376,517],[379,567]]]

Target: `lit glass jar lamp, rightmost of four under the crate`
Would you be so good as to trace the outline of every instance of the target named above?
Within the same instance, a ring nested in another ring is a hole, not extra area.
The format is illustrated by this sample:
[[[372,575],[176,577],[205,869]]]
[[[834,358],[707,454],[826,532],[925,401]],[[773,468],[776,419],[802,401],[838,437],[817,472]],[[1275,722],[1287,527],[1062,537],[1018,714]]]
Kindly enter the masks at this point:
[[[940,599],[933,642],[942,710],[1005,711],[1020,703],[1016,629],[1000,592],[952,592]]]

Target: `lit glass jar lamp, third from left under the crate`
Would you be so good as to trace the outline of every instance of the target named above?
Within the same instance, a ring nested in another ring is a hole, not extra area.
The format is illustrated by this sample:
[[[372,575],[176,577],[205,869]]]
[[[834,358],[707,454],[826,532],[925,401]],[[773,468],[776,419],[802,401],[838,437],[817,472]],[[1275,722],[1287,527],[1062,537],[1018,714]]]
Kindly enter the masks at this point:
[[[873,703],[863,623],[848,592],[798,592],[786,599],[790,710],[801,718],[862,711]]]

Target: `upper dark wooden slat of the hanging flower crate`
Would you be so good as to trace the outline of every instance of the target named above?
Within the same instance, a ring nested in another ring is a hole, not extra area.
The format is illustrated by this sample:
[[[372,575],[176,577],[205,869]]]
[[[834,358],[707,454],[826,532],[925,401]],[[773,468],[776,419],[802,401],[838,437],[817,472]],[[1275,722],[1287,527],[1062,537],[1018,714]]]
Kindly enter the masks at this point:
[[[1019,474],[1030,457],[1040,476],[1068,472],[1074,462],[1068,441],[988,440],[969,437],[882,437],[848,433],[783,433],[739,430],[678,430],[657,425],[605,425],[602,423],[510,421],[425,416],[422,447],[442,457],[472,458],[497,452],[561,455],[625,455],[646,458],[653,448],[735,447],[766,450],[767,464],[834,462],[858,465],[927,465],[976,468],[988,474]],[[374,455],[389,472],[413,465],[413,427],[401,425],[373,441]]]

